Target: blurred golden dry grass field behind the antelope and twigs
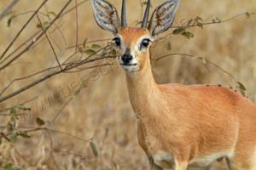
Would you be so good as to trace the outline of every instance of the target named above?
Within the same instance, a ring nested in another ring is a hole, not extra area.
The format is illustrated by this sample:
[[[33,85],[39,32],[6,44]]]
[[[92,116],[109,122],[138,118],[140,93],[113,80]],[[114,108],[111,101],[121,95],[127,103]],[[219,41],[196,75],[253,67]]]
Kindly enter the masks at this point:
[[[1,0],[0,11],[3,11],[10,2],[10,0]],[[57,13],[66,2],[51,0],[41,12]],[[79,2],[82,1],[78,0]],[[120,8],[120,0],[110,2]],[[154,0],[152,7],[162,2],[163,0]],[[22,0],[17,3],[12,14],[0,20],[0,54],[32,13],[15,17],[8,27],[9,17],[35,10],[40,3],[41,1]],[[74,5],[73,0],[69,8]],[[197,16],[208,22],[216,17],[220,20],[230,19],[245,12],[256,13],[255,0],[182,0],[173,26],[180,26],[184,20],[194,19]],[[47,20],[47,17],[39,16],[43,21]],[[52,33],[51,30],[49,31],[57,53],[61,52],[61,48],[76,43],[75,16],[73,10],[57,22],[67,42],[63,40],[60,31],[52,31]],[[140,1],[127,0],[127,16],[129,26],[136,26],[137,20],[141,20]],[[84,38],[88,41],[112,38],[108,32],[96,25],[90,1],[79,6],[78,19],[79,43],[83,42]],[[35,17],[10,51],[38,31],[37,24],[38,20]],[[172,31],[173,29],[168,32]],[[178,53],[193,54],[210,60],[236,77],[237,81],[242,82],[247,88],[247,96],[254,101],[256,99],[256,15],[251,15],[247,19],[244,14],[228,22],[204,26],[203,29],[193,27],[189,28],[189,31],[195,37],[187,39],[181,35],[171,35],[164,41],[155,43],[151,48],[152,58]],[[98,43],[102,46],[107,44],[106,41]],[[59,59],[61,61],[67,59],[73,50],[74,48],[65,50]],[[56,65],[55,57],[44,38],[44,41],[0,71],[0,90],[2,91],[15,78],[25,77],[49,65]],[[205,64],[200,59],[191,59],[182,55],[173,55],[159,61],[152,60],[152,67],[154,78],[159,83],[223,84],[233,88],[237,85],[219,68],[209,63]],[[28,78],[17,81],[3,95],[22,88],[33,80]],[[24,101],[29,101],[26,106],[32,111],[20,116],[19,126],[38,127],[35,120],[40,117],[45,122],[44,127],[50,130],[29,133],[31,138],[19,137],[15,143],[3,139],[3,144],[0,145],[0,169],[8,163],[20,169],[150,169],[147,156],[137,144],[137,120],[129,102],[125,74],[118,63],[102,69],[57,75],[15,98],[0,103],[0,110]],[[9,116],[0,116],[0,122],[0,132],[4,132]],[[216,163],[211,168],[213,169],[225,169],[225,165]]]

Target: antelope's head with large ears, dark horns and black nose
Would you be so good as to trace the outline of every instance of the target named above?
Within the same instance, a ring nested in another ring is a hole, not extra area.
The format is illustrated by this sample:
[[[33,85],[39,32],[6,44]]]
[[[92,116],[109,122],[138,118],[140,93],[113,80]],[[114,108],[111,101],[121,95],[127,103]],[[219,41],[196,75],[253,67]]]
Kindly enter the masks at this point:
[[[148,0],[140,28],[126,26],[125,0],[122,2],[121,20],[116,8],[106,0],[92,0],[92,4],[96,23],[113,33],[119,65],[125,71],[137,72],[150,63],[149,47],[155,37],[172,26],[178,0],[167,0],[155,8],[149,23]]]

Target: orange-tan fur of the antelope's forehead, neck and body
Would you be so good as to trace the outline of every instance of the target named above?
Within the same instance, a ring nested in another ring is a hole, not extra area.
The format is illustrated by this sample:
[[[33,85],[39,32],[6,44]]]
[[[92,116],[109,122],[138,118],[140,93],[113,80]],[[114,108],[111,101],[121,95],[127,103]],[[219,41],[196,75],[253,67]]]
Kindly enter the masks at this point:
[[[149,37],[147,29],[130,27],[119,35],[131,49]],[[250,100],[218,85],[156,84],[149,49],[135,53],[139,71],[126,72],[127,87],[138,142],[155,169],[185,170],[193,160],[227,156],[234,169],[255,170],[256,107]]]

